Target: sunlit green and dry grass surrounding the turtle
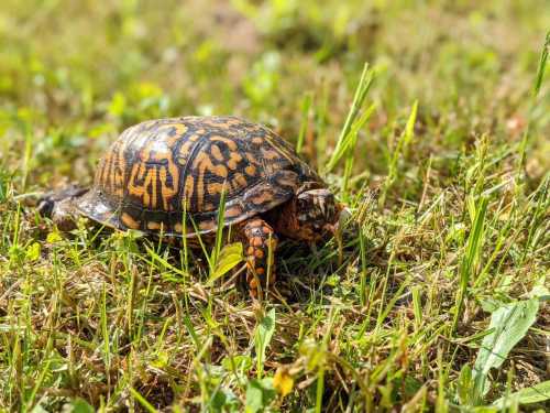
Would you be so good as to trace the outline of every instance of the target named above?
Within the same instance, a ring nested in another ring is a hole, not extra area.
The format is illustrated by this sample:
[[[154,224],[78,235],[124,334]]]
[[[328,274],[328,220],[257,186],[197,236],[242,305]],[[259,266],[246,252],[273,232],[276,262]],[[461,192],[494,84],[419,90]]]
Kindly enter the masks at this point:
[[[548,409],[549,28],[537,0],[3,1],[0,410]],[[284,240],[267,300],[239,246],[32,207],[125,127],[208,113],[277,130],[353,214]]]

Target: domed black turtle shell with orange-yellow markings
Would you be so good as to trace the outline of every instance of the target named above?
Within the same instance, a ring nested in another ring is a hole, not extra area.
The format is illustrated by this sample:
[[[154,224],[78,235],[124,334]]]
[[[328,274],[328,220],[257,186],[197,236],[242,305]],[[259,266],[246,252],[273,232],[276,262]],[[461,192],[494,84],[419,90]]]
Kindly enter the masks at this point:
[[[267,128],[237,117],[151,120],[127,129],[76,207],[118,229],[194,236],[265,213],[319,176]],[[222,196],[223,193],[223,196]]]

